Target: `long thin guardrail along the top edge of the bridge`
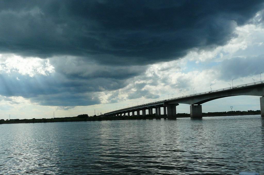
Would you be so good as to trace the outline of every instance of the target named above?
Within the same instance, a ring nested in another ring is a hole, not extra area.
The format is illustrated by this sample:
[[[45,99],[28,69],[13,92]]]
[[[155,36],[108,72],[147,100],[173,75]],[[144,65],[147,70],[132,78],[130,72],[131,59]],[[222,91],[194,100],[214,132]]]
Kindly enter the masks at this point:
[[[113,111],[107,112],[107,113],[119,112],[119,111],[123,111],[123,110],[126,110],[126,109],[137,108],[137,107],[140,107],[140,106],[146,106],[146,105],[149,105],[149,104],[162,103],[164,101],[167,102],[167,101],[171,101],[171,100],[175,100],[175,99],[181,99],[181,98],[187,98],[187,97],[191,97],[191,96],[197,96],[197,95],[215,93],[215,92],[220,92],[220,91],[225,91],[225,90],[230,90],[230,89],[243,88],[243,87],[246,87],[246,86],[253,86],[253,85],[257,85],[257,84],[264,84],[263,82],[264,81],[257,81],[257,82],[243,84],[243,85],[238,85],[238,86],[230,86],[229,88],[223,88],[223,89],[217,89],[217,90],[212,90],[212,91],[206,91],[206,92],[202,92],[202,93],[184,95],[184,96],[170,98],[170,99],[166,99],[166,100],[160,100],[160,101],[155,101],[155,102],[146,103],[146,104],[142,104],[142,105],[136,105],[136,106],[132,106],[132,107],[128,107],[128,108],[123,108],[123,109],[119,109],[119,110],[113,110]],[[107,114],[107,113],[105,113],[105,114]]]

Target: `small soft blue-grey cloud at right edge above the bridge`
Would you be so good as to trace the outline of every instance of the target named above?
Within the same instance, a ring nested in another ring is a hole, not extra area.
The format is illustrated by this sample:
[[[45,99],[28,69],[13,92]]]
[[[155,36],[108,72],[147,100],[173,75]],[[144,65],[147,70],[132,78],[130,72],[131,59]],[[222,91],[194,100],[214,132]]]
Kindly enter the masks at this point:
[[[262,66],[256,65],[264,65],[264,55],[247,58],[235,57],[230,60],[224,60],[219,67],[219,76],[223,80],[230,80],[232,78],[259,75],[260,72],[264,72]]]

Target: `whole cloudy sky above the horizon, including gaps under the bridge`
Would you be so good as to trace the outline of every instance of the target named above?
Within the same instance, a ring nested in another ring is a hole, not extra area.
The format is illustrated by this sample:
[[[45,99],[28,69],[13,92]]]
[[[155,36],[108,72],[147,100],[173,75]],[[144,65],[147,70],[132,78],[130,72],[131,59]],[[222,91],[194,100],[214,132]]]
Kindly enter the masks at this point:
[[[234,86],[260,81],[263,5],[0,1],[0,119],[103,114],[210,84],[227,88],[232,79]],[[202,110],[260,110],[259,98],[217,99]],[[190,113],[189,105],[177,113]]]

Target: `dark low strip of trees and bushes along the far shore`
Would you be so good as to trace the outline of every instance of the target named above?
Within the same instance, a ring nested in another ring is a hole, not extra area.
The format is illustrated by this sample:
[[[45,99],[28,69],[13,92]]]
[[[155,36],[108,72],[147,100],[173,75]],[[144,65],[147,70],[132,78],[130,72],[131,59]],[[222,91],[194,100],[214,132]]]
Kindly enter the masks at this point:
[[[228,111],[228,112],[208,112],[202,113],[203,117],[209,116],[233,116],[233,115],[258,115],[260,110],[248,110],[248,111]],[[176,119],[176,118],[187,118],[190,117],[190,114],[178,113],[175,117],[167,117],[166,115],[161,115],[157,117],[154,115],[140,115],[140,116],[105,116],[105,115],[94,115],[88,116],[87,114],[81,114],[75,117],[62,117],[62,118],[42,118],[42,119],[1,119],[0,124],[12,124],[12,123],[49,123],[49,122],[70,122],[70,121],[103,121],[103,120],[140,120],[140,119]]]

